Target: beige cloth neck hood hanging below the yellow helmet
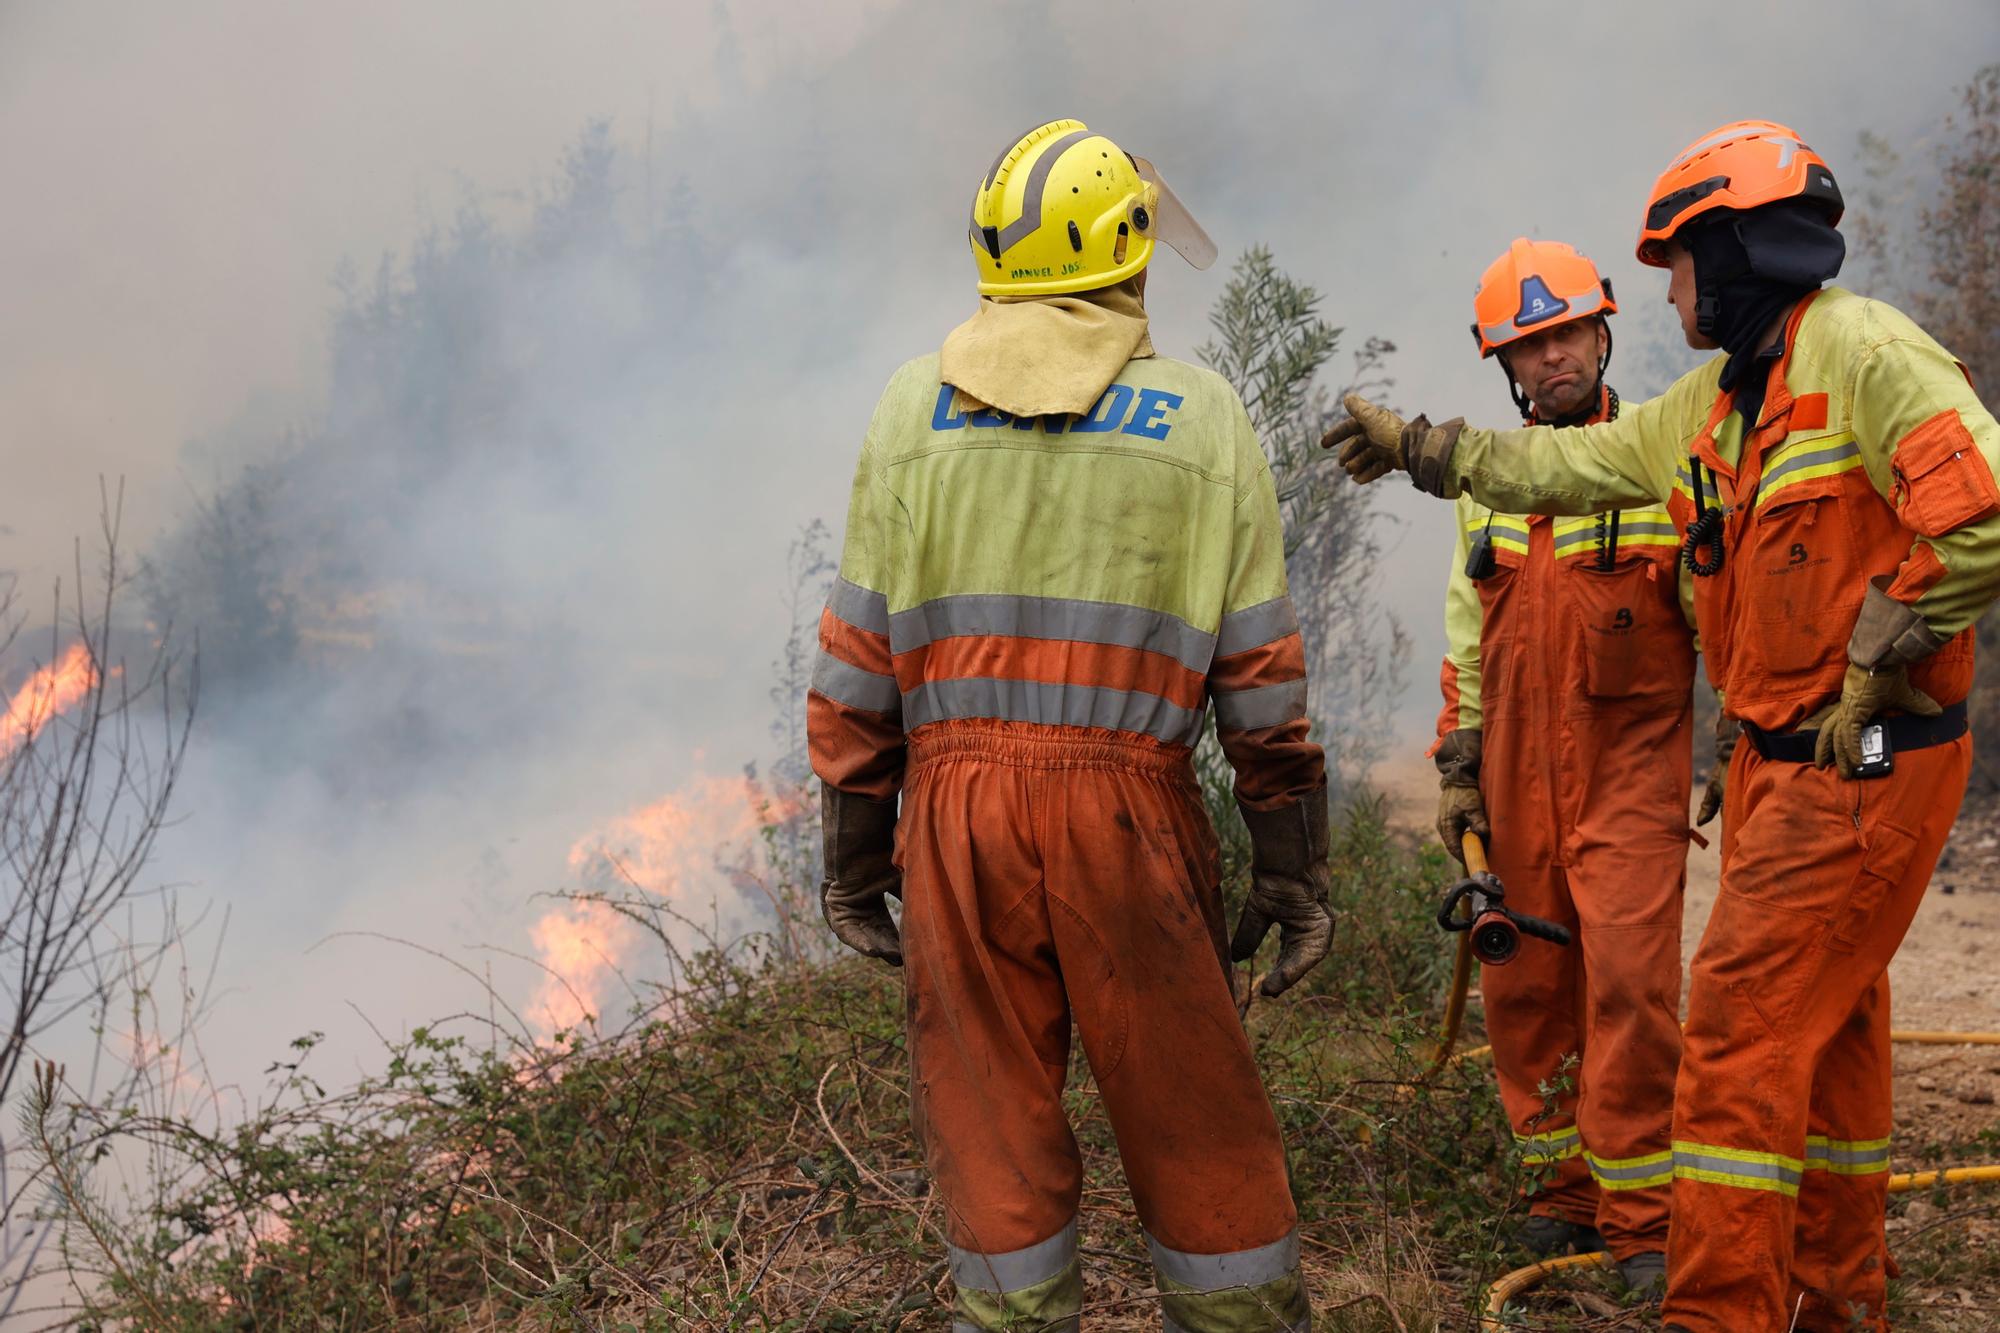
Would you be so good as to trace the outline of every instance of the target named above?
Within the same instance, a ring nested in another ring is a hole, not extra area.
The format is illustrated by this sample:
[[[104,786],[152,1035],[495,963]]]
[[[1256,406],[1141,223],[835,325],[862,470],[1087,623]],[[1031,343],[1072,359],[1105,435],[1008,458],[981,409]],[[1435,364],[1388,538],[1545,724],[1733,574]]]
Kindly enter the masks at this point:
[[[938,370],[960,406],[1082,416],[1134,356],[1152,356],[1136,276],[1064,296],[980,296],[944,338]]]

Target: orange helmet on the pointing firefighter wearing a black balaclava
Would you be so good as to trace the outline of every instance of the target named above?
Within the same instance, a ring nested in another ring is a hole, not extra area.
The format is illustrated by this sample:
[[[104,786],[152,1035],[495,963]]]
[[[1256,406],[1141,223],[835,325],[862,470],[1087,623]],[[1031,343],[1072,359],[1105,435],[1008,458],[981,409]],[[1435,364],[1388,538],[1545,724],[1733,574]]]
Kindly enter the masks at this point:
[[[1716,208],[1758,208],[1808,198],[1840,222],[1844,204],[1826,158],[1774,120],[1736,120],[1688,144],[1652,184],[1638,232],[1642,264],[1666,268],[1666,242],[1692,218]]]

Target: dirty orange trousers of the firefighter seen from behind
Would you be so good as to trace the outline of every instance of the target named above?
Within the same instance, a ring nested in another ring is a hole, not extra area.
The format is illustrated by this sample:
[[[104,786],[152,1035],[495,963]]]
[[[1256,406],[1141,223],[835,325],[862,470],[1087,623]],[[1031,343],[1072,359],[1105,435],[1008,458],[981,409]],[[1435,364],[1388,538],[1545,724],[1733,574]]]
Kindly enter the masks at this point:
[[[1218,851],[1188,751],[934,723],[910,735],[896,835],[912,1099],[946,1209],[954,1327],[1072,1327],[1058,1291],[1080,1289],[1082,1163],[1062,1109],[1072,1021],[1168,1327],[1310,1327],[1284,1143],[1230,993]]]

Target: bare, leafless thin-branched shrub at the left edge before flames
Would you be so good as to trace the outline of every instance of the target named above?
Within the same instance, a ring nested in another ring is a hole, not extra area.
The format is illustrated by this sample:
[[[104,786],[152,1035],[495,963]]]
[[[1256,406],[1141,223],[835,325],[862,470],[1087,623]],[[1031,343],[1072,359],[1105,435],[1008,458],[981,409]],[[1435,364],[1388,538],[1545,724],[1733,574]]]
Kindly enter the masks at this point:
[[[82,1041],[94,1059],[64,1091],[128,1105],[166,1055],[142,1015],[182,931],[172,899],[148,895],[140,877],[186,755],[194,671],[168,630],[116,628],[128,576],[110,496],[102,542],[88,582],[76,560],[90,600],[64,602],[58,584],[48,654],[30,656],[0,715],[0,1101],[20,1091],[28,1061]],[[20,628],[8,592],[0,662],[18,656]],[[156,927],[138,927],[142,909],[158,911]],[[0,1139],[0,1323],[52,1235],[36,1213],[46,1165],[30,1145]]]

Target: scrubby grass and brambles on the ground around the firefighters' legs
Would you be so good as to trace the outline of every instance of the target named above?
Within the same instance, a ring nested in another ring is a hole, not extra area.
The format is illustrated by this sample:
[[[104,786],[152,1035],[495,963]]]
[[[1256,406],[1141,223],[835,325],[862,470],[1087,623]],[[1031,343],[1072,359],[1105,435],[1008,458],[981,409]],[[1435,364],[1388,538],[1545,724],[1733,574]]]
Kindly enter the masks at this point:
[[[1522,1263],[1500,1235],[1532,1181],[1482,1067],[1412,1087],[1450,963],[1430,911],[1456,867],[1390,837],[1372,805],[1336,843],[1334,961],[1248,1011],[1292,1149],[1314,1327],[1466,1327],[1472,1295]],[[710,953],[614,1035],[534,1047],[500,1033],[480,1017],[418,1029],[342,1091],[314,1081],[304,1037],[274,1067],[270,1105],[228,1133],[106,1117],[46,1087],[30,1115],[76,1283],[60,1319],[190,1333],[938,1325],[940,1205],[908,1125],[896,973]],[[1080,1057],[1068,1109],[1086,1163],[1088,1323],[1156,1329]],[[90,1193],[114,1143],[154,1163],[150,1197],[116,1215]],[[1942,1225],[1898,1249],[1898,1327],[1966,1327],[1932,1321],[1946,1311],[1926,1301],[1982,1261],[1990,1275],[1976,1241]],[[1530,1311],[1522,1327],[1644,1327],[1588,1281]]]

